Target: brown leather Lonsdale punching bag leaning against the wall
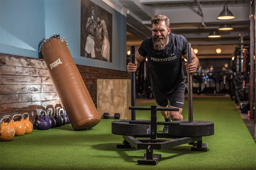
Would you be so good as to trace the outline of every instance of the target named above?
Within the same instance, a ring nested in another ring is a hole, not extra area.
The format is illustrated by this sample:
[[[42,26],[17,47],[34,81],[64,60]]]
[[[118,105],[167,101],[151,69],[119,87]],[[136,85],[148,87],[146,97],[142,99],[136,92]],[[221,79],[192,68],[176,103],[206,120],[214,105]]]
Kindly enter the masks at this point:
[[[40,51],[73,129],[88,130],[98,124],[98,111],[65,39],[54,34],[41,43]]]

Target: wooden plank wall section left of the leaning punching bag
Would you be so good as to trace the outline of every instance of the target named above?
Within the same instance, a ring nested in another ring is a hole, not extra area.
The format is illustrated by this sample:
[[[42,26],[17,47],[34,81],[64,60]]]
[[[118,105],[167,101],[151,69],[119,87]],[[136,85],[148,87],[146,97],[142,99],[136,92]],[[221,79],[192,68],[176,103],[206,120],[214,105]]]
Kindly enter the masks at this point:
[[[0,54],[0,115],[60,103],[43,59]]]

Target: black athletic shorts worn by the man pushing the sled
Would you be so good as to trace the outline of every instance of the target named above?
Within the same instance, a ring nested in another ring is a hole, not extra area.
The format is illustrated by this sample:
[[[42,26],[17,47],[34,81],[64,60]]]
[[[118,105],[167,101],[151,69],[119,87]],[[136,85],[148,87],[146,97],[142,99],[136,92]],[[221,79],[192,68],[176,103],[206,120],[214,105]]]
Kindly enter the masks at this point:
[[[183,108],[185,98],[185,83],[182,82],[172,94],[161,94],[154,91],[153,94],[155,101],[159,106],[165,107],[168,105],[168,102],[170,102],[170,106]]]

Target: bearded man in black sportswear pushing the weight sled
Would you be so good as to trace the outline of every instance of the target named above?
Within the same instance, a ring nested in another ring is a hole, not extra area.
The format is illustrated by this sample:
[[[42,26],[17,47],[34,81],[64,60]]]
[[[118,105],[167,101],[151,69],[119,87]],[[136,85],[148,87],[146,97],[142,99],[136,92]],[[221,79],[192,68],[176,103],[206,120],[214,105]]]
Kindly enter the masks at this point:
[[[166,122],[183,120],[185,81],[182,68],[182,55],[187,59],[188,40],[182,35],[171,33],[169,19],[165,15],[156,15],[151,19],[152,37],[146,38],[135,52],[135,64],[128,63],[127,72],[135,72],[140,62],[149,59],[150,82],[155,101],[159,107],[176,107],[179,111],[160,111]],[[187,64],[186,72],[195,74],[199,64],[191,48],[192,63]],[[163,127],[168,133],[168,126]]]

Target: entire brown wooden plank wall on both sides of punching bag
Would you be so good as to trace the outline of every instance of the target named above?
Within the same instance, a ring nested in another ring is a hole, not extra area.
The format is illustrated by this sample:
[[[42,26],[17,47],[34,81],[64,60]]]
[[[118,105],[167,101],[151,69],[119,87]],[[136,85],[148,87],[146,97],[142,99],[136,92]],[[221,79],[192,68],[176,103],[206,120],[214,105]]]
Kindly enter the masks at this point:
[[[97,79],[130,79],[125,71],[77,65],[97,104]],[[62,106],[44,59],[0,53],[0,118],[28,112],[35,124],[38,110]]]

